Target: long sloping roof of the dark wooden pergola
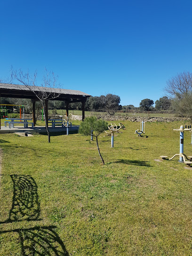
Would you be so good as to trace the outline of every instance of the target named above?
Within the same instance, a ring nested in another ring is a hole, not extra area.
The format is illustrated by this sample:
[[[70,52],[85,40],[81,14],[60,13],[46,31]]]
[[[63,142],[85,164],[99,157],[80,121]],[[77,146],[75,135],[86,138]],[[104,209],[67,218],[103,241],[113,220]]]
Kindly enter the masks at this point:
[[[40,92],[53,92],[58,93],[58,97],[49,98],[50,100],[61,100],[61,101],[70,101],[70,102],[80,102],[86,101],[88,97],[91,95],[70,89],[60,89],[60,88],[44,88],[41,86],[32,86],[32,90],[36,93]],[[25,99],[33,99],[38,100],[35,93],[30,90],[25,85],[17,85],[17,84],[4,84],[0,83],[0,97],[8,97],[8,98],[25,98]]]

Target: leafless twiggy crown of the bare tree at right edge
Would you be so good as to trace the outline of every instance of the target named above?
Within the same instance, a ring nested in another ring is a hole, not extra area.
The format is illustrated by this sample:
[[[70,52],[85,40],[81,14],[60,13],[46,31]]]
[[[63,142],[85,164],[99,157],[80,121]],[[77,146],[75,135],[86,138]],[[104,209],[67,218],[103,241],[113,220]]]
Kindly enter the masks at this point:
[[[189,71],[178,73],[176,76],[167,80],[167,86],[164,90],[168,95],[174,97],[177,94],[192,92],[192,73]]]

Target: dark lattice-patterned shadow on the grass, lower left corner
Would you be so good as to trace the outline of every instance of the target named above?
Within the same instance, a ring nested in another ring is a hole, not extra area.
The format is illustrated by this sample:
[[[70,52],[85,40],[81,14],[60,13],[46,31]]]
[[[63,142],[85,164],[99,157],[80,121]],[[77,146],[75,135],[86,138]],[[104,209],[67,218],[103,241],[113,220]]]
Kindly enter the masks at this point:
[[[8,219],[0,224],[40,221],[40,202],[37,184],[29,175],[10,175],[13,181],[12,207]],[[36,223],[35,223],[36,225]],[[63,241],[54,231],[56,226],[35,226],[24,229],[9,229],[0,233],[17,232],[23,256],[68,256]]]

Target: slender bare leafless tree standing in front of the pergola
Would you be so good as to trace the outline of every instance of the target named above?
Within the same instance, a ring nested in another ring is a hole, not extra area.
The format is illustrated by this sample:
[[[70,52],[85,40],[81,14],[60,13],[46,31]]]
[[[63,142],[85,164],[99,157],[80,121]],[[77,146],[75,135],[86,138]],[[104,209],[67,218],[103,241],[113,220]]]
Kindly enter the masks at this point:
[[[34,72],[33,76],[29,74],[29,71],[23,73],[20,69],[16,71],[12,68],[12,76],[20,83],[24,84],[42,103],[43,111],[45,113],[45,125],[48,133],[48,142],[50,142],[50,133],[48,130],[48,116],[45,110],[46,101],[49,99],[57,98],[61,92],[58,89],[57,79],[54,72],[48,72],[45,69],[45,75],[43,75],[41,86],[37,86],[37,71]]]

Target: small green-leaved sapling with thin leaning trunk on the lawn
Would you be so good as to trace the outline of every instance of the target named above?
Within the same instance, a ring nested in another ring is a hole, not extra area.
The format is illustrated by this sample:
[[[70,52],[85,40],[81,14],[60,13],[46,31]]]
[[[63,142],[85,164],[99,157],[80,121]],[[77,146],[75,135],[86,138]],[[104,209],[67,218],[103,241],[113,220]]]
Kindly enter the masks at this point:
[[[101,158],[102,164],[104,164],[103,157],[101,156],[100,150],[99,150],[99,145],[98,145],[98,139],[97,137],[104,132],[105,130],[108,129],[107,127],[107,122],[103,119],[97,119],[95,116],[91,117],[86,117],[80,125],[79,128],[79,133],[85,136],[90,135],[91,136],[91,131],[93,131],[93,136],[96,137],[96,145],[97,149],[99,152],[99,156]]]

